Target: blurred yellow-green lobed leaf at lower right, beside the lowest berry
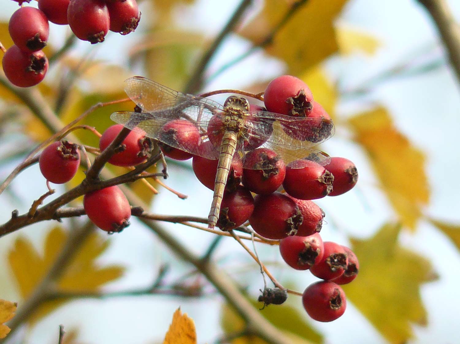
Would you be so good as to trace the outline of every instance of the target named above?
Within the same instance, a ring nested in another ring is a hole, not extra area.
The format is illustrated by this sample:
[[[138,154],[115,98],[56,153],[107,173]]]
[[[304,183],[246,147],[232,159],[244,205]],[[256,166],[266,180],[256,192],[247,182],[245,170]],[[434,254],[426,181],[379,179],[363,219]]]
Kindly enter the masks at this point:
[[[426,326],[420,285],[435,279],[430,262],[399,246],[401,226],[385,224],[366,240],[352,239],[359,274],[342,286],[349,299],[390,342],[406,343],[413,323]]]

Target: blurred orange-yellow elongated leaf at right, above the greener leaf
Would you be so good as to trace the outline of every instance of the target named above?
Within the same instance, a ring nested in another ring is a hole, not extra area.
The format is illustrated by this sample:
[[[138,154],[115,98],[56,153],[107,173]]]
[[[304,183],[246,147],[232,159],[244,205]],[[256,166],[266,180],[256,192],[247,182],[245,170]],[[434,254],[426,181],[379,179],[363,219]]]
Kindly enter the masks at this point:
[[[355,141],[367,151],[400,222],[414,229],[430,199],[425,155],[395,128],[384,108],[354,116],[349,124]]]

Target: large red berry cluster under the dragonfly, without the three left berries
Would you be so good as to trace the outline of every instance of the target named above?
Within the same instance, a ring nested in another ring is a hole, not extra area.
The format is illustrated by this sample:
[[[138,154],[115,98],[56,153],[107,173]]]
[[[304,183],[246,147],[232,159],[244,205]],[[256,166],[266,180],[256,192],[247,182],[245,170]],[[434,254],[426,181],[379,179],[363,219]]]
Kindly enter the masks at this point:
[[[283,75],[272,80],[265,90],[264,104],[266,110],[273,113],[318,119],[305,120],[300,125],[297,122],[295,127],[280,120],[283,131],[291,138],[317,143],[331,132],[328,113],[313,100],[308,86],[298,78]],[[251,105],[251,110],[265,109]],[[198,128],[187,120],[172,120],[162,130],[164,135],[174,136],[179,147],[193,145],[207,150],[207,145],[218,146],[222,142],[222,127],[221,118],[213,116],[207,126],[209,140],[203,142],[200,142]],[[244,142],[244,161],[234,159],[231,163],[217,225],[228,230],[249,220],[259,235],[280,240],[281,256],[288,265],[294,269],[310,269],[313,275],[324,280],[305,289],[305,310],[317,321],[333,321],[346,307],[345,294],[339,284],[349,283],[356,277],[358,261],[349,248],[334,242],[323,243],[318,232],[325,215],[311,200],[349,191],[357,183],[357,168],[342,157],[331,157],[325,166],[314,158],[286,165],[274,150],[260,147],[264,143],[260,136],[250,134]],[[171,142],[171,139],[165,137],[165,141]],[[193,171],[198,180],[214,189],[217,160],[165,144],[162,149],[173,159],[193,158]],[[286,193],[277,191],[281,187]]]

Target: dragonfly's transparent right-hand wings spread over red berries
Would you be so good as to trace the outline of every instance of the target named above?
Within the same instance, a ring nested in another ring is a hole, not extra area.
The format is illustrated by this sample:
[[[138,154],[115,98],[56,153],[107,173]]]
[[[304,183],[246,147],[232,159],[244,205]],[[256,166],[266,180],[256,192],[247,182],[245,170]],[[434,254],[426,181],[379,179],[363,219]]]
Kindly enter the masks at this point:
[[[320,165],[330,161],[326,153],[312,147],[334,135],[335,128],[331,120],[257,111],[245,116],[245,126],[245,151],[257,147],[268,148],[280,155],[286,164],[301,159],[313,160]],[[247,164],[244,167],[253,168]]]

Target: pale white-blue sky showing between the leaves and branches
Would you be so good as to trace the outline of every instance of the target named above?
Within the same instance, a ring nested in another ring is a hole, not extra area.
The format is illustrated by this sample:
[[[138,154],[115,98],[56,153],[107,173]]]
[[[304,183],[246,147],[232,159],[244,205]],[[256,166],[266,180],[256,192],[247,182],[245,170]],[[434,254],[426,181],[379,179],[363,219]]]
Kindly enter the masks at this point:
[[[215,34],[226,22],[238,1],[201,0],[195,8],[184,8],[181,25]],[[449,4],[457,20],[460,19],[460,2],[450,0]],[[10,17],[17,4],[4,1],[2,18]],[[203,10],[206,9],[206,10]],[[143,8],[141,7],[141,10]],[[138,30],[143,29],[143,21],[147,20],[148,11],[143,11],[143,20]],[[355,56],[347,60],[331,59],[328,71],[332,80],[339,79],[344,88],[359,86],[381,71],[391,68],[397,63],[410,61],[411,57],[423,47],[438,46],[427,54],[431,57],[442,56],[439,40],[431,20],[415,0],[351,0],[343,11],[338,23],[351,24],[365,32],[373,33],[382,40],[382,47],[373,57]],[[62,42],[67,33],[66,27],[51,24],[52,41]],[[110,33],[106,42],[96,46],[96,56],[99,58],[120,58],[136,39],[136,33],[126,37]],[[86,52],[90,45],[79,42],[80,52]],[[232,37],[225,41],[213,61],[212,68],[229,60],[229,55],[238,55],[247,47],[244,41]],[[117,61],[120,63],[126,61]],[[282,64],[273,59],[255,54],[234,69],[221,75],[207,89],[242,88],[253,81],[266,79],[282,74]],[[46,80],[46,79],[45,79]],[[356,109],[357,104],[373,102],[383,103],[391,110],[398,128],[428,156],[427,173],[429,176],[432,198],[427,213],[435,218],[449,219],[460,223],[460,184],[456,182],[456,173],[460,170],[458,159],[458,130],[460,109],[460,87],[449,67],[443,66],[426,74],[415,77],[396,77],[379,83],[366,97],[341,103],[339,110],[344,113]],[[364,100],[364,102],[363,102]],[[391,207],[375,187],[376,180],[372,174],[366,157],[355,145],[344,140],[343,135],[330,139],[324,149],[330,155],[345,156],[354,161],[358,167],[360,180],[356,189],[340,197],[327,197],[317,203],[325,210],[328,224],[322,229],[324,240],[337,241],[347,244],[347,236],[368,237],[389,219],[393,219]],[[397,152],[395,152],[397,154]],[[191,163],[191,161],[190,161]],[[2,170],[1,179],[10,172],[13,166]],[[189,214],[207,216],[212,199],[212,192],[202,186],[193,174],[171,170],[167,180],[169,186],[189,195],[185,201],[166,190],[156,197],[152,211],[161,214]],[[410,176],[408,176],[410,182]],[[45,183],[40,175],[38,166],[33,166],[23,172],[10,186],[11,192],[17,193],[26,205],[16,204],[6,195],[0,197],[1,222],[5,222],[14,208],[20,212],[26,211],[28,205],[45,191]],[[11,280],[6,266],[6,253],[17,235],[27,235],[34,239],[40,249],[47,227],[51,223],[39,224],[22,229],[8,235],[0,241],[0,281],[6,279],[11,283],[7,290],[0,289],[0,297],[17,299],[14,282]],[[187,247],[196,253],[204,252],[213,235],[202,234],[195,229],[180,225],[164,225],[178,235]],[[103,263],[123,264],[127,274],[107,290],[124,290],[148,286],[155,278],[158,266],[162,262],[173,261],[170,252],[157,240],[152,240],[152,234],[142,226],[132,221],[132,225],[121,235],[111,237],[112,245],[101,258]],[[403,233],[401,242],[404,246],[423,254],[431,260],[440,281],[426,284],[421,288],[423,302],[428,311],[428,326],[415,327],[416,338],[410,343],[456,343],[459,342],[457,331],[458,309],[460,298],[456,297],[458,290],[458,266],[460,255],[446,237],[428,224],[420,223],[414,234]],[[266,262],[281,262],[276,247],[258,247],[261,258]],[[258,269],[249,257],[239,249],[236,242],[224,239],[215,255],[222,258],[222,266],[229,271],[237,271],[238,266],[251,264],[252,269],[234,276],[250,286],[254,295],[262,287],[262,279]],[[281,265],[283,266],[283,265]],[[171,276],[190,271],[190,266],[173,264]],[[298,289],[306,287],[316,279],[309,273],[292,271],[291,269],[273,268],[272,272],[281,281],[295,280]],[[376,272],[378,273],[378,271]],[[359,278],[359,277],[358,277]],[[385,278],[385,276],[382,276]],[[1,282],[3,285],[3,281]],[[300,307],[300,298],[291,296],[290,301]],[[167,298],[162,296],[145,296],[132,298],[116,298],[106,301],[76,301],[66,304],[48,316],[29,334],[28,343],[56,343],[58,325],[66,328],[79,327],[82,343],[88,344],[144,344],[161,342],[171,321],[173,311],[181,306],[196,323],[199,343],[213,343],[220,334],[219,311],[221,298],[209,296],[202,299]],[[308,316],[305,314],[305,318]],[[310,321],[321,333],[326,342],[331,344],[368,344],[385,343],[379,333],[368,324],[365,318],[352,306],[339,320],[333,323]],[[354,329],[354,330],[351,330]]]

